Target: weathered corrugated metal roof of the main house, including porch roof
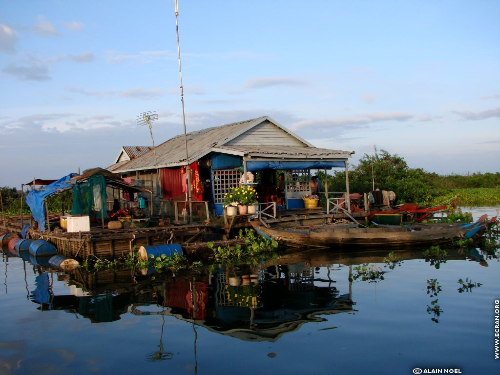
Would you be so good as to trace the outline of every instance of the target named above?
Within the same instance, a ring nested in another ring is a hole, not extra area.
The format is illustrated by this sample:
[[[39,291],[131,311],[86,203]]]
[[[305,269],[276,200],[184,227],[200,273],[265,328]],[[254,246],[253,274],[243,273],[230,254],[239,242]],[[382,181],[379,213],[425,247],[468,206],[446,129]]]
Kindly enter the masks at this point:
[[[244,146],[244,147],[224,146],[224,143],[230,141],[231,139],[244,133],[248,129],[251,129],[252,127],[266,120],[282,128],[283,130],[288,132],[291,136],[299,139],[302,143],[304,143],[304,147],[294,146],[296,148],[292,147],[289,150],[285,150],[284,147],[279,147],[280,149],[276,150],[276,149],[271,149],[270,147],[263,147],[263,146]],[[297,135],[293,134],[288,129],[281,126],[276,121],[272,120],[267,116],[262,116],[246,121],[233,122],[221,126],[192,131],[186,134],[186,140],[187,140],[189,163],[203,157],[204,155],[212,151],[214,147],[220,147],[221,150],[225,149],[226,152],[235,154],[240,154],[241,151],[245,153],[245,150],[249,150],[262,155],[265,154],[265,156],[267,157],[269,157],[270,155],[279,157],[279,155],[285,155],[286,152],[289,152],[289,155],[302,154],[303,157],[307,157],[307,155],[309,157],[320,156],[320,155],[323,155],[323,157],[329,157],[325,156],[326,153],[328,155],[336,155],[336,157],[338,158],[341,157],[339,156],[339,154],[350,155],[351,153],[353,153],[351,151],[335,151],[335,150],[326,150],[326,149],[312,147],[310,143],[298,137]],[[312,148],[314,148],[315,151],[312,150]],[[324,152],[321,153],[320,150],[323,150]],[[156,157],[157,157],[157,165],[154,160],[154,152],[150,150],[135,157],[134,159],[131,159],[130,161],[124,164],[118,165],[116,167],[111,166],[109,167],[109,170],[112,170],[113,172],[127,172],[132,170],[152,169],[155,168],[156,166],[168,167],[168,166],[185,165],[186,147],[184,141],[184,134],[176,135],[173,138],[170,138],[167,141],[156,146]]]

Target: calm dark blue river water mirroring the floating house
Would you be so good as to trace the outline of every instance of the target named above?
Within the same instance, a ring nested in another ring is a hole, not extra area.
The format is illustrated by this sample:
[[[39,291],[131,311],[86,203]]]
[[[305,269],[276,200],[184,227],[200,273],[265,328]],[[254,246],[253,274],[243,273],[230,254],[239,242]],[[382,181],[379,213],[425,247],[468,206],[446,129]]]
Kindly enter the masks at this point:
[[[496,209],[463,208],[474,218]],[[307,251],[154,278],[3,255],[0,374],[498,373],[498,252],[449,250],[436,268],[422,249],[384,263],[389,251]],[[385,273],[362,280],[362,266]],[[460,289],[460,278],[474,286]]]

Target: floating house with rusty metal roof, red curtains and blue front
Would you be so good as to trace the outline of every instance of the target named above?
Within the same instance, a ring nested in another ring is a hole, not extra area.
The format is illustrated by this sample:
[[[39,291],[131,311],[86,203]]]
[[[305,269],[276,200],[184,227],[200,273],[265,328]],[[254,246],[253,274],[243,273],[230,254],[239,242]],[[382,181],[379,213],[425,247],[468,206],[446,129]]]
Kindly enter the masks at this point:
[[[241,182],[252,183],[261,204],[303,208],[302,196],[311,194],[311,170],[343,168],[348,194],[347,164],[354,153],[314,147],[268,116],[177,135],[155,150],[138,147],[145,152],[133,157],[131,149],[123,147],[107,169],[152,190],[153,214],[178,213],[189,204],[188,212],[201,217],[203,207],[221,215],[225,193]],[[284,175],[281,200],[273,196],[278,171]]]

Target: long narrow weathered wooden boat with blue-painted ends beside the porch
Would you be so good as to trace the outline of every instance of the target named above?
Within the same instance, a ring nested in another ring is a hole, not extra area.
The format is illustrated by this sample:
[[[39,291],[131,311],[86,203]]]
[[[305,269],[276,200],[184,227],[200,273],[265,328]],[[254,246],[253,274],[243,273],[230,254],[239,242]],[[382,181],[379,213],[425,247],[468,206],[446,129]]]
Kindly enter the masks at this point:
[[[289,246],[300,247],[346,247],[365,248],[388,246],[430,246],[451,242],[462,237],[471,237],[485,227],[487,217],[465,226],[420,225],[337,227],[323,225],[312,228],[273,229],[258,221],[251,221],[253,228],[265,238],[273,238]],[[479,228],[479,229],[478,229]]]

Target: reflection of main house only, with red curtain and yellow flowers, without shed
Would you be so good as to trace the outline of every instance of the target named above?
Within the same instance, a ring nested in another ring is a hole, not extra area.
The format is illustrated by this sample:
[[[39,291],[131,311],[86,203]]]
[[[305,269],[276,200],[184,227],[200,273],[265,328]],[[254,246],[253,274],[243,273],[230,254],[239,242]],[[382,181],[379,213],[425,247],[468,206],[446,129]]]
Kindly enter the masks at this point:
[[[211,277],[211,286],[192,281],[165,284],[162,292],[156,289],[156,302],[168,307],[168,315],[248,341],[275,341],[306,322],[325,320],[318,315],[354,311],[350,294],[314,285],[310,267],[297,265],[279,275],[262,273],[261,278],[259,283],[230,285],[220,269]]]

